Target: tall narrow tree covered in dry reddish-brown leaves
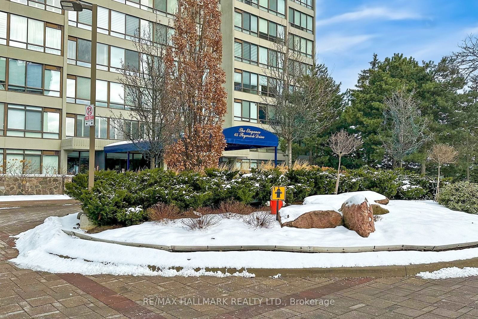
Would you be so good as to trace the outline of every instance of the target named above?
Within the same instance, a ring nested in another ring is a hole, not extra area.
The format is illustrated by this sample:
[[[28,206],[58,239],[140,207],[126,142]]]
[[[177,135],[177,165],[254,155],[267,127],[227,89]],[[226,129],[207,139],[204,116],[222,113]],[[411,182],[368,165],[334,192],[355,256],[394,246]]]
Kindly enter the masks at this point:
[[[220,26],[219,0],[178,0],[175,33],[166,55],[176,142],[166,145],[164,161],[172,169],[198,171],[215,166],[226,146]]]

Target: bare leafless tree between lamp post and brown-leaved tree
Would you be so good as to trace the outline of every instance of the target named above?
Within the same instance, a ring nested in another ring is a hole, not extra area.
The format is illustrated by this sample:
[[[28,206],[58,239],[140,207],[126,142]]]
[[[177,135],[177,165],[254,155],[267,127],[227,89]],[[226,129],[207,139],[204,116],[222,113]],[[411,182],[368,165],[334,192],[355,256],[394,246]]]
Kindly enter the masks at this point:
[[[118,82],[124,89],[126,109],[130,113],[111,112],[111,127],[120,137],[130,141],[141,154],[150,159],[153,168],[163,157],[163,148],[171,143],[174,127],[171,104],[166,91],[165,55],[167,46],[166,28],[159,24],[136,30],[131,37],[137,53],[121,61]],[[127,53],[128,55],[128,53]]]

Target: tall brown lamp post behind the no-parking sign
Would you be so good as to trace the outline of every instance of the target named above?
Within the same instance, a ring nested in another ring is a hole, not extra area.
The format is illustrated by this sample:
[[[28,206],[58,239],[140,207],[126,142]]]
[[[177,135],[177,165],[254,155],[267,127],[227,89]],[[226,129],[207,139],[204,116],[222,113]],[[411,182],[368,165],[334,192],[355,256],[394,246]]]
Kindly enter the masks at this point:
[[[80,12],[83,9],[91,10],[91,75],[90,75],[90,104],[93,105],[93,114],[96,116],[96,46],[97,46],[97,24],[98,5],[85,4],[77,0],[62,0],[61,7],[65,11]],[[88,190],[93,188],[95,183],[95,122],[89,128],[89,163],[88,163]]]

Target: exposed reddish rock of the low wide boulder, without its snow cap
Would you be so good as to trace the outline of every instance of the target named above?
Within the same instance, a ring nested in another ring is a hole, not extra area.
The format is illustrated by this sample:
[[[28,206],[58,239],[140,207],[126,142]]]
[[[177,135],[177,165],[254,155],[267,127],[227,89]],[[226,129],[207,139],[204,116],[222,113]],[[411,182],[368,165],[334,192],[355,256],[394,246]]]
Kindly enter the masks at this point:
[[[344,224],[344,218],[335,210],[315,210],[300,215],[295,220],[282,222],[281,227],[295,228],[335,228]]]

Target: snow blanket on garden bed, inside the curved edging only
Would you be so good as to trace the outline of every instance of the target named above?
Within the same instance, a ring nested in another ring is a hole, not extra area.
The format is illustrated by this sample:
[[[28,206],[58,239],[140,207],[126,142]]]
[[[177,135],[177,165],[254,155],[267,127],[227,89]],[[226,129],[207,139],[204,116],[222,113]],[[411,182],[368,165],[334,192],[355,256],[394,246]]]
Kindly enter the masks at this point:
[[[301,206],[301,205],[297,205]],[[315,209],[324,204],[313,204]],[[447,209],[432,201],[392,200],[390,213],[375,222],[376,231],[360,237],[344,226],[326,229],[283,227],[248,228],[242,220],[223,219],[206,231],[187,231],[176,220],[167,225],[140,225],[102,231],[91,236],[120,242],[158,245],[285,245],[285,246],[382,246],[445,245],[478,241],[478,215]],[[315,210],[312,209],[312,210]],[[68,229],[71,229],[69,227]]]

